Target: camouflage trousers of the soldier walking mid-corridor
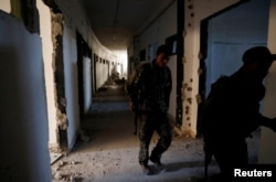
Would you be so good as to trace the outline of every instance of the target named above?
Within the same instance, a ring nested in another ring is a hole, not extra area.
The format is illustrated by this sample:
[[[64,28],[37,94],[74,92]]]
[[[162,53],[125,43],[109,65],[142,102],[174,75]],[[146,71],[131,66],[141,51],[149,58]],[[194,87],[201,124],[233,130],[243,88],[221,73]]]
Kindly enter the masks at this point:
[[[151,159],[160,159],[161,154],[170,147],[172,139],[172,127],[167,114],[150,113],[140,115],[140,150],[139,163],[147,164],[149,160],[149,144],[153,132],[159,135],[159,140],[151,151]]]

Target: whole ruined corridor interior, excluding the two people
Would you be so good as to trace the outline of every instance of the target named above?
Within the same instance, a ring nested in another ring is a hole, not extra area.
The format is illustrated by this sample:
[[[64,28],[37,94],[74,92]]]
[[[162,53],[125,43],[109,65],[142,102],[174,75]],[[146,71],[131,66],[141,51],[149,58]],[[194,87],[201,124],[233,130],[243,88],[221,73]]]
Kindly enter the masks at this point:
[[[1,0],[1,181],[202,178],[202,101],[248,47],[276,53],[275,9],[276,0]],[[170,47],[174,136],[168,172],[144,176],[124,83],[161,44]],[[274,63],[261,103],[269,118],[275,71]],[[248,139],[252,162],[276,163],[275,139],[258,128]]]

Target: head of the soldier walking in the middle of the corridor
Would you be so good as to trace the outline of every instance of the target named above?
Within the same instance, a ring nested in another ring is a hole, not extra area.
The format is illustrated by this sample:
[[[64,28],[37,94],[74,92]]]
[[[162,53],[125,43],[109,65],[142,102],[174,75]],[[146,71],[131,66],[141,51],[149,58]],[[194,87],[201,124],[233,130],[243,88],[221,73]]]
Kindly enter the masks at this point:
[[[156,52],[156,64],[159,67],[166,66],[169,61],[170,49],[167,45],[160,45]]]

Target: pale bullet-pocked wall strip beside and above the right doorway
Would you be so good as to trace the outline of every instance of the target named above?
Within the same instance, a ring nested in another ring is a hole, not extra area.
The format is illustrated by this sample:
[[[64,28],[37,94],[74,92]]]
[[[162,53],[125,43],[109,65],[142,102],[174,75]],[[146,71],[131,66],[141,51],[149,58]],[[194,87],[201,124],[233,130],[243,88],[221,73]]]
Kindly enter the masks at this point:
[[[199,55],[200,23],[203,19],[238,2],[238,0],[193,0],[185,1],[184,7],[184,77],[182,87],[183,119],[182,131],[197,136],[199,101]],[[192,8],[190,8],[192,7]],[[193,15],[191,15],[193,14]],[[225,22],[226,24],[226,22]],[[225,25],[223,24],[223,25]],[[192,88],[190,90],[189,88]],[[189,109],[185,109],[189,108]],[[187,110],[189,110],[187,113]]]

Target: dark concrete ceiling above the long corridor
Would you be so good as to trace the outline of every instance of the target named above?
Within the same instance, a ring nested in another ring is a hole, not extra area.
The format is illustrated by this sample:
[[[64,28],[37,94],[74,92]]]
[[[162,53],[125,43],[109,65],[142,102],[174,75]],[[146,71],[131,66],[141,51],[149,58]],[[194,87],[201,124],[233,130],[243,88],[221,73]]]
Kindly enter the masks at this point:
[[[134,35],[160,4],[171,0],[82,0],[92,29],[110,51],[126,51]]]

